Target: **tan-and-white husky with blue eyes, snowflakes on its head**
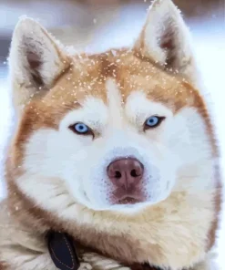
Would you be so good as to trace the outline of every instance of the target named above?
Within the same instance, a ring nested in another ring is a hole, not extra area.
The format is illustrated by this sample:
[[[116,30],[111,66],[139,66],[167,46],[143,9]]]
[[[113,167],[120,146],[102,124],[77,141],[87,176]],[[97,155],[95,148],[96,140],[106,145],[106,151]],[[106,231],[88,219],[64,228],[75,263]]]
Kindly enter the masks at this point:
[[[1,270],[219,269],[220,149],[170,0],[153,2],[132,47],[96,54],[21,18],[9,73]]]

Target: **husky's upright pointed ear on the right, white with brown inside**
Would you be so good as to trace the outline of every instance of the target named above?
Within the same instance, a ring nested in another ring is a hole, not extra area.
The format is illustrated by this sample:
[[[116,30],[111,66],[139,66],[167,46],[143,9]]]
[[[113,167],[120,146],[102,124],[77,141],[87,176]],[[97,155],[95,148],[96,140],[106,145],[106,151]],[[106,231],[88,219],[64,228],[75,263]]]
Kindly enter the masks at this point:
[[[150,6],[135,49],[142,57],[195,83],[196,67],[189,30],[179,9],[170,0],[155,0]]]

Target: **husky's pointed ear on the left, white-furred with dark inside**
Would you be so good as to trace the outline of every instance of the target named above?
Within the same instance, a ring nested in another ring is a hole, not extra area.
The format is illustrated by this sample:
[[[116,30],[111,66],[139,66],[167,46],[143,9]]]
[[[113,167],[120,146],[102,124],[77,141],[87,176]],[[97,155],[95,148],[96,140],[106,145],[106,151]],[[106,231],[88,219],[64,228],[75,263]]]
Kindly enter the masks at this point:
[[[30,18],[20,19],[9,54],[15,108],[50,88],[70,62],[63,47],[42,26]]]

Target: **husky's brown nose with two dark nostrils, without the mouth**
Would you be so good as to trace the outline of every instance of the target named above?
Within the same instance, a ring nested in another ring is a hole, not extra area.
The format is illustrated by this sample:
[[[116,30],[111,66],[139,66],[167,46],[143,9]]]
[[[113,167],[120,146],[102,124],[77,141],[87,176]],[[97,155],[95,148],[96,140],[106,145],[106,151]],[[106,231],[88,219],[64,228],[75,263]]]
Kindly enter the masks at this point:
[[[111,162],[107,167],[107,176],[117,187],[128,190],[138,185],[144,173],[143,164],[132,158]]]

